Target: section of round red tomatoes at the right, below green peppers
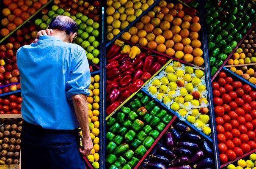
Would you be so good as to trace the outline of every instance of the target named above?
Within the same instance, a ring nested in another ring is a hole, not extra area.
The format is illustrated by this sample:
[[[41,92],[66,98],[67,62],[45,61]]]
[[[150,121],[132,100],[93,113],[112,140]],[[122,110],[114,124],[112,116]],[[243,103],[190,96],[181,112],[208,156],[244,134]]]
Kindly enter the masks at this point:
[[[256,92],[225,72],[212,83],[221,164],[256,149]]]

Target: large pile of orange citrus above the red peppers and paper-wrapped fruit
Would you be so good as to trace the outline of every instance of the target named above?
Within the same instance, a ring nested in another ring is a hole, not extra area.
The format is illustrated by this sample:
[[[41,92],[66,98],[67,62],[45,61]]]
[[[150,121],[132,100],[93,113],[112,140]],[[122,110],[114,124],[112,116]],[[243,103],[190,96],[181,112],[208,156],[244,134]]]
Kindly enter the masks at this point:
[[[191,17],[180,3],[161,0],[153,11],[121,35],[124,40],[165,53],[188,63],[202,66],[204,59],[198,40],[201,29],[198,16]]]

